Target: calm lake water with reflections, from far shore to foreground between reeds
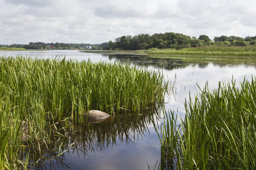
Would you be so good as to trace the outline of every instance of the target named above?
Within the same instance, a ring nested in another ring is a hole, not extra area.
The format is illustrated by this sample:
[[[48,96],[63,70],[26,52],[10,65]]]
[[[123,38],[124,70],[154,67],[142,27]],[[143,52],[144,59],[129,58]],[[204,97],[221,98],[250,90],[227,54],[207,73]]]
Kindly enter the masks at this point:
[[[219,81],[251,80],[256,75],[256,60],[251,58],[230,59],[210,57],[147,57],[138,55],[102,55],[78,50],[50,50],[31,52],[1,52],[0,55],[31,57],[59,57],[93,62],[124,62],[138,67],[162,70],[174,93],[166,95],[165,110],[178,110],[184,117],[184,101],[189,92],[193,98],[198,87],[208,82],[210,89],[218,87]],[[176,80],[175,80],[176,77]],[[174,83],[175,80],[175,84]],[[33,157],[42,158],[34,169],[84,169],[84,170],[141,170],[154,169],[161,159],[161,144],[154,125],[161,124],[159,108],[143,110],[140,115],[116,115],[98,124],[74,125],[73,133],[64,133],[60,143],[55,141],[51,152]],[[60,147],[61,145],[61,147]],[[54,158],[60,151],[67,150]],[[49,158],[54,158],[50,161]]]

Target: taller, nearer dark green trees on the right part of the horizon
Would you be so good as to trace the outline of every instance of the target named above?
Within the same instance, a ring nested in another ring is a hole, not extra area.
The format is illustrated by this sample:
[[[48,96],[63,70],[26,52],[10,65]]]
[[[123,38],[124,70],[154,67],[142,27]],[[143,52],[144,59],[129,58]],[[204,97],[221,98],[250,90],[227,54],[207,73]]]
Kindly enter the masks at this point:
[[[127,35],[118,37],[115,42],[109,41],[101,44],[104,50],[145,50],[149,48],[175,48],[181,49],[184,47],[200,47],[209,45],[220,46],[248,46],[256,45],[255,37],[236,37],[225,36],[214,37],[212,41],[207,35],[190,37],[180,33],[166,32],[164,34],[139,34],[135,36]]]

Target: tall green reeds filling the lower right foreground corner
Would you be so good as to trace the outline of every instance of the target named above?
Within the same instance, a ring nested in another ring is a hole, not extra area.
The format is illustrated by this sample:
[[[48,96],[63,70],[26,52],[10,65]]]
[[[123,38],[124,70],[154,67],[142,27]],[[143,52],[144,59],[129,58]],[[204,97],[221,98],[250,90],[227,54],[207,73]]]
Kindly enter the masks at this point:
[[[238,86],[238,87],[237,87]],[[166,169],[256,168],[256,78],[207,85],[185,102],[180,125],[173,112],[161,128],[162,167]],[[178,117],[179,118],[179,117]]]

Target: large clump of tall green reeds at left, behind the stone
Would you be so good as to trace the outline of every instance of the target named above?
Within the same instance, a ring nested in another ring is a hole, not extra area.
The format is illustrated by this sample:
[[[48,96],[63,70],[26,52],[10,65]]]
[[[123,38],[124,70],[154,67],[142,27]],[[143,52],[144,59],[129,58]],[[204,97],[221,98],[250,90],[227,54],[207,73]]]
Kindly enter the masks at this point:
[[[138,113],[163,102],[165,90],[160,71],[119,63],[0,57],[0,169],[26,166],[26,158],[19,160],[21,120],[28,122],[26,147],[40,153],[41,145],[51,148],[51,138],[59,138],[56,123],[66,122],[67,128],[71,120],[81,122],[87,110]]]

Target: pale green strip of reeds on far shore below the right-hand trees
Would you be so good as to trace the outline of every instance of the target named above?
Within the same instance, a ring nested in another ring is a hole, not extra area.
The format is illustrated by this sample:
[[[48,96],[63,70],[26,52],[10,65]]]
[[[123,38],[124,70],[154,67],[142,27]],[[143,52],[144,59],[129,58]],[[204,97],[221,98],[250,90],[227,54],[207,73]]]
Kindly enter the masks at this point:
[[[206,47],[183,48],[181,50],[153,49],[153,50],[138,50],[138,53],[146,53],[148,55],[256,57],[256,46],[249,46],[249,47],[206,46]]]

